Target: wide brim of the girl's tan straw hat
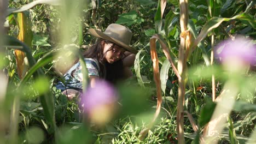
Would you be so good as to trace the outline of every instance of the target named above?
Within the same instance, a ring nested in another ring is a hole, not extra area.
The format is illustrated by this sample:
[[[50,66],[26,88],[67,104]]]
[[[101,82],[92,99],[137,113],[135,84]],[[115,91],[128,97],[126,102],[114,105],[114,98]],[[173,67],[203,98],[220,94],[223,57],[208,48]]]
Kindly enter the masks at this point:
[[[132,46],[130,45],[126,45],[124,44],[123,42],[121,42],[120,40],[117,40],[117,39],[114,39],[112,37],[109,37],[107,34],[101,32],[101,31],[98,31],[97,29],[94,29],[94,28],[89,28],[88,32],[91,34],[91,35],[94,35],[95,37],[97,38],[102,38],[102,39],[106,39],[106,40],[109,40],[119,46],[123,46],[127,51],[130,51],[132,53],[137,53],[138,51],[135,50],[135,48],[133,48]]]

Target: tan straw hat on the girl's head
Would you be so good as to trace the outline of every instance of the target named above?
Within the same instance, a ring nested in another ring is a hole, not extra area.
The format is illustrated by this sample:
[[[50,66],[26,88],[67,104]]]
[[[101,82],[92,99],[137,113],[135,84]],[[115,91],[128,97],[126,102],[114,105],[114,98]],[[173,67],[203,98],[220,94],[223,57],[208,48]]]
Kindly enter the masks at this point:
[[[138,52],[135,48],[130,46],[132,32],[129,28],[126,28],[125,26],[112,23],[107,27],[105,32],[90,28],[89,33],[97,38],[103,38],[119,46],[123,46],[127,51],[130,51],[132,53],[136,54]]]

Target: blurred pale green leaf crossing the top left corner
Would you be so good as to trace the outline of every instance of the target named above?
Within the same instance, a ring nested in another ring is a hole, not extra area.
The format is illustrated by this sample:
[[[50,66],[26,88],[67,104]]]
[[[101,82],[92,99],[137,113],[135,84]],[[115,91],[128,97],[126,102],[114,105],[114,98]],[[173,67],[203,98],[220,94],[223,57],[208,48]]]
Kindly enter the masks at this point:
[[[31,3],[28,3],[26,5],[23,5],[21,8],[19,9],[14,9],[14,8],[9,8],[7,10],[7,15],[10,15],[11,13],[20,13],[22,11],[26,11],[28,9],[33,8],[34,6],[36,6],[37,4],[51,4],[51,5],[60,5],[61,1],[60,0],[37,0],[37,1],[33,1]]]

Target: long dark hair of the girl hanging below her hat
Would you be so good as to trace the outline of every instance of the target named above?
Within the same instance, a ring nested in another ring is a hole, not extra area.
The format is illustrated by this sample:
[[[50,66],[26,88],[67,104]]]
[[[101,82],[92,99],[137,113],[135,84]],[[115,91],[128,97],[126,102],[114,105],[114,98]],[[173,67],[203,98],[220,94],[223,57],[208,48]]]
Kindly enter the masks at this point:
[[[106,62],[104,58],[107,52],[103,52],[103,47],[101,45],[102,41],[104,41],[107,44],[113,44],[108,51],[113,50],[114,46],[116,45],[108,40],[97,39],[94,45],[90,46],[88,50],[84,51],[83,56],[85,58],[97,59],[100,65],[100,78],[104,78],[111,83],[116,83],[118,80],[124,78],[123,61],[120,59],[119,61],[114,62],[112,64]],[[77,63],[78,61],[79,59],[75,63]]]

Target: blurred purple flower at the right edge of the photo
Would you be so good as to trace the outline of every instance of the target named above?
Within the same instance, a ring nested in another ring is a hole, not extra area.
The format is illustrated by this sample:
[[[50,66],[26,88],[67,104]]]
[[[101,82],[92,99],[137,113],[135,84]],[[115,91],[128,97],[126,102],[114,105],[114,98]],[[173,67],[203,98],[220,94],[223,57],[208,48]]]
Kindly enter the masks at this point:
[[[222,63],[256,64],[256,45],[251,39],[238,37],[235,40],[224,40],[217,46],[215,53]]]

